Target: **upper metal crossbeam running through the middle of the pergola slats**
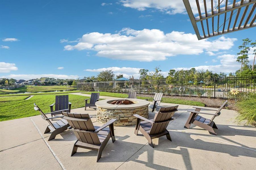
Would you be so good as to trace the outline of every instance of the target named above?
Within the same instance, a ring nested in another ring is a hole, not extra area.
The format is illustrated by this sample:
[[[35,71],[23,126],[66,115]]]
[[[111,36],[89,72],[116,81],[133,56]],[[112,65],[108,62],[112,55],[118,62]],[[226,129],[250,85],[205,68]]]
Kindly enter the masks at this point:
[[[216,9],[215,11],[213,11],[213,14],[212,14],[212,12],[208,12],[207,14],[202,14],[201,18],[199,16],[197,16],[197,17],[195,17],[195,22],[199,22],[199,21],[202,21],[202,20],[205,20],[208,18],[212,18],[214,16],[224,14],[229,11],[233,11],[235,9],[239,9],[239,8],[241,9],[242,7],[251,5],[253,3],[256,3],[256,0],[244,0],[242,5],[241,5],[241,1],[239,1],[235,4],[234,7],[233,7],[233,4],[231,4],[231,5],[227,5],[227,7],[222,7],[222,8]]]

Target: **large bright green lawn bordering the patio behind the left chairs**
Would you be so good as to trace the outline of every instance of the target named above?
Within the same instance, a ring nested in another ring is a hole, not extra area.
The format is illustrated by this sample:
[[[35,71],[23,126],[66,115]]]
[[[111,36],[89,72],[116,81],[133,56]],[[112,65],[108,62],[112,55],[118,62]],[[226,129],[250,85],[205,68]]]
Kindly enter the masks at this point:
[[[80,95],[68,95],[68,99],[72,103],[71,109],[84,107],[84,99],[88,98],[86,96]],[[40,114],[38,111],[34,110],[34,103],[36,103],[43,112],[50,112],[49,105],[54,102],[55,95],[35,95],[28,100],[0,102],[0,121],[24,118]]]

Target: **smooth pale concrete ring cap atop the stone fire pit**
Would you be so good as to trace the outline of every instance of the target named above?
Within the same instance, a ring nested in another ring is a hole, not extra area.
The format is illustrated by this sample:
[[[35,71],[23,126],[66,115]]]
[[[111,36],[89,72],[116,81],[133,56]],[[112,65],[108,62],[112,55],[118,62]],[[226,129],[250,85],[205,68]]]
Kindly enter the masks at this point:
[[[115,100],[130,100],[134,102],[134,104],[131,105],[113,105],[109,104],[112,101]],[[95,103],[96,106],[105,108],[105,109],[135,109],[143,106],[148,106],[149,101],[146,100],[141,100],[141,99],[128,99],[128,98],[116,98],[116,99],[105,99],[105,100],[100,100]]]

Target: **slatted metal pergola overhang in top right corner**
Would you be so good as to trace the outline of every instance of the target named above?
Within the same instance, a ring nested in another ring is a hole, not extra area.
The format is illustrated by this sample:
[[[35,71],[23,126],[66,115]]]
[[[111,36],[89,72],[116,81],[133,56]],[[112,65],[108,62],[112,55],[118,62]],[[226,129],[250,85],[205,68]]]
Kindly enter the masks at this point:
[[[203,10],[201,10],[199,0],[194,2],[183,0],[198,40],[256,26],[256,0],[232,0],[230,5],[228,2],[228,0],[218,0],[217,6],[214,7],[213,0],[211,4],[203,0],[201,4]],[[194,16],[190,3],[196,3],[199,16]],[[207,7],[211,7],[211,11],[208,12]],[[211,21],[208,22],[208,19]],[[201,35],[198,27],[201,29]],[[256,31],[254,33],[256,34]]]

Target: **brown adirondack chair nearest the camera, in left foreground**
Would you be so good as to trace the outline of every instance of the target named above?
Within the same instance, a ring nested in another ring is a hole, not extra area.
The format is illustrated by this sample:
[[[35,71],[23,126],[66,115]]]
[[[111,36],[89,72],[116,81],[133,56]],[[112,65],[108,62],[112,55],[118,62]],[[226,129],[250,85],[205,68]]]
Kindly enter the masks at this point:
[[[68,129],[74,131],[77,141],[75,142],[71,156],[77,151],[77,148],[85,148],[91,150],[98,150],[97,161],[101,158],[101,153],[105,148],[110,137],[112,142],[115,142],[114,125],[117,119],[111,119],[106,124],[93,126],[89,114],[67,113],[62,112],[64,119],[70,125]],[[107,128],[109,126],[109,128]]]

